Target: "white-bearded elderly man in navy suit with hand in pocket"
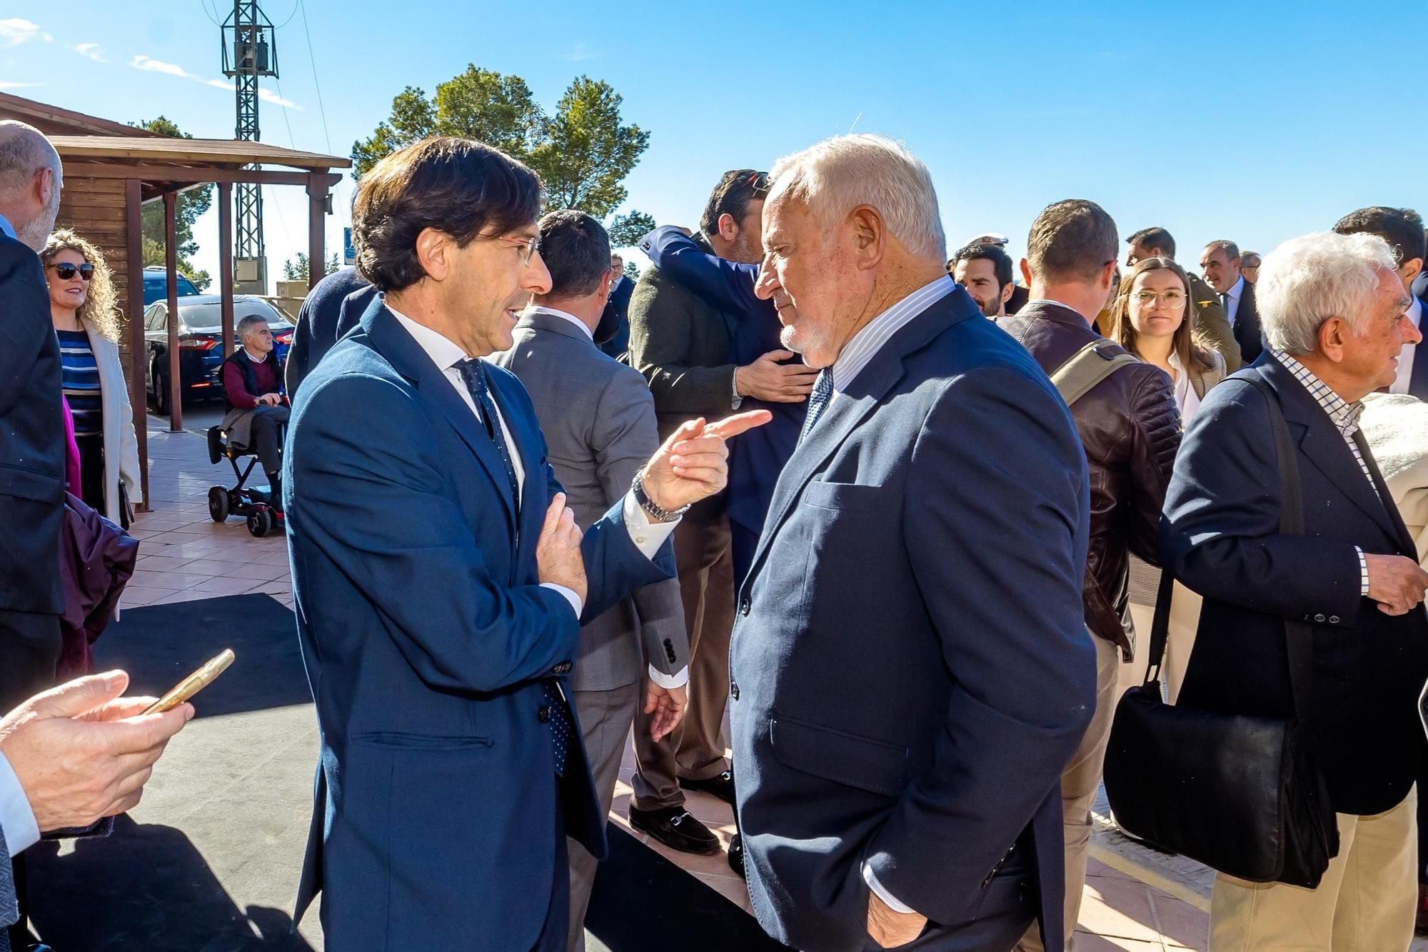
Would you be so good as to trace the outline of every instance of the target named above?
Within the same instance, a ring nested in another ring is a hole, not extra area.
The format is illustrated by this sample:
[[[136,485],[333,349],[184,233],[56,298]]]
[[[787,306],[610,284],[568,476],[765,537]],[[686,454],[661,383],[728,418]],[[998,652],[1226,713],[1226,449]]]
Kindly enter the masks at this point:
[[[877,136],[774,166],[757,292],[821,370],[738,596],[748,892],[807,952],[1061,948],[1057,778],[1085,730],[1085,456],[945,273],[927,167]]]

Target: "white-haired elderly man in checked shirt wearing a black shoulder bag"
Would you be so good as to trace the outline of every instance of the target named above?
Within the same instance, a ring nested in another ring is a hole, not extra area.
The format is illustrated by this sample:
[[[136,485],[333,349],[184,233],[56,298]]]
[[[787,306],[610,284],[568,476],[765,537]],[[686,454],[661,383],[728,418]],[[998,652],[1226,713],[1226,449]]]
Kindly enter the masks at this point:
[[[1164,565],[1205,599],[1177,703],[1298,718],[1338,815],[1339,849],[1315,889],[1218,875],[1210,948],[1407,949],[1428,573],[1358,417],[1419,334],[1394,254],[1372,234],[1285,242],[1264,257],[1257,293],[1268,349],[1205,397],[1165,500]],[[1301,535],[1279,527],[1275,406],[1295,449]],[[1312,630],[1301,712],[1287,620]]]

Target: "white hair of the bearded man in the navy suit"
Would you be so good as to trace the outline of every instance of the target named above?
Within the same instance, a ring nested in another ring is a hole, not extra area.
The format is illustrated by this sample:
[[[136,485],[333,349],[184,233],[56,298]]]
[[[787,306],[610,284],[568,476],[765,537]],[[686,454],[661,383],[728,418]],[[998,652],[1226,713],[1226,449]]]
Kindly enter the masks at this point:
[[[868,204],[912,254],[942,262],[947,237],[927,166],[885,136],[834,136],[784,156],[768,173],[770,200],[788,193],[825,224]]]

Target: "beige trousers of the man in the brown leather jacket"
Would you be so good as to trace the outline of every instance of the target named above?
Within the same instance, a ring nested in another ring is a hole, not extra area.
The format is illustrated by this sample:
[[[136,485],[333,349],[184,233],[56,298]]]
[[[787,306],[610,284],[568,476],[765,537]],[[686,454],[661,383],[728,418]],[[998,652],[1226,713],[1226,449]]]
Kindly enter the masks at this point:
[[[1061,809],[1065,833],[1065,931],[1067,952],[1074,946],[1077,919],[1081,916],[1081,893],[1085,892],[1085,848],[1091,842],[1091,806],[1101,786],[1105,766],[1105,745],[1111,739],[1111,718],[1115,715],[1117,675],[1121,669],[1121,649],[1104,638],[1090,636],[1095,643],[1095,713],[1085,729],[1081,746],[1061,772]],[[1020,952],[1041,952],[1038,926],[1022,936]]]

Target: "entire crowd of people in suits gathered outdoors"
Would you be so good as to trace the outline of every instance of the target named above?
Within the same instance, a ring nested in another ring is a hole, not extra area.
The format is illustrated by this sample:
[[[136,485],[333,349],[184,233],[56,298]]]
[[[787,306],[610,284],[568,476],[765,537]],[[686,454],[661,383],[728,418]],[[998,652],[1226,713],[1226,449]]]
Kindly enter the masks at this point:
[[[17,859],[137,802],[193,713],[136,718],[121,673],[50,688],[64,489],[127,517],[137,467],[106,269],[50,236],[60,189],[44,137],[0,124]],[[1117,702],[1164,618],[1168,700],[1301,720],[1337,823],[1314,888],[1220,872],[1211,948],[1407,949],[1421,217],[1215,240],[1195,273],[1074,199],[1020,263],[994,233],[948,256],[927,167],[850,134],[721,176],[631,282],[594,217],[541,204],[483,143],[393,153],[286,367],[254,326],[224,370],[287,520],[321,738],[297,915],[321,892],[330,948],[583,949],[631,735],[630,825],[718,853],[685,793],[727,800],[728,862],[790,946],[1071,948]],[[1312,630],[1308,709],[1287,620]]]

